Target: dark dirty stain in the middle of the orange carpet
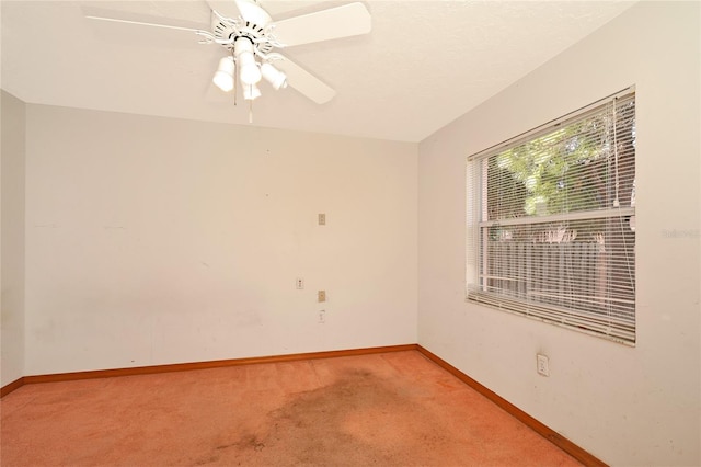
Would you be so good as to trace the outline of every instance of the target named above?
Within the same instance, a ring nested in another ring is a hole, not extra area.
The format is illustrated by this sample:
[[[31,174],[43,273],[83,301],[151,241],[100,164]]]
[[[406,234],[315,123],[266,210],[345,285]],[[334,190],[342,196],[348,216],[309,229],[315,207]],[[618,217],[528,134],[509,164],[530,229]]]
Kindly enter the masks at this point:
[[[415,443],[441,443],[441,430],[430,417],[412,423],[422,408],[401,391],[372,372],[349,369],[330,386],[295,395],[256,433],[217,449],[241,465],[421,464]]]

